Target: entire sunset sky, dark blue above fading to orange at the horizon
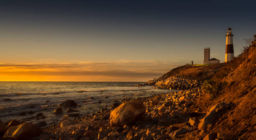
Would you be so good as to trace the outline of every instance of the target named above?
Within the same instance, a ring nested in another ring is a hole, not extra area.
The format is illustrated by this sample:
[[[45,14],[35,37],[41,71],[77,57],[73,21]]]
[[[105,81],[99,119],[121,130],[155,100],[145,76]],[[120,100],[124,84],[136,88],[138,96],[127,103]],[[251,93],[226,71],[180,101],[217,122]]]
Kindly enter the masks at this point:
[[[0,81],[148,81],[235,56],[256,34],[255,0],[1,0]]]

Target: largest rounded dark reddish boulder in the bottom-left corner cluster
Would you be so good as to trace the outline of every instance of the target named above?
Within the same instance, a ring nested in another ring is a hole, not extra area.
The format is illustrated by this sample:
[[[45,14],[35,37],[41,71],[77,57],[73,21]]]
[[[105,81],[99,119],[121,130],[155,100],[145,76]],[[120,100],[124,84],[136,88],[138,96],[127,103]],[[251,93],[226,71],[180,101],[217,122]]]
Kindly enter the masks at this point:
[[[18,126],[15,132],[13,132],[12,137],[18,140],[28,140],[40,135],[42,132],[42,129],[38,125],[35,125],[32,122],[24,122],[22,125]]]

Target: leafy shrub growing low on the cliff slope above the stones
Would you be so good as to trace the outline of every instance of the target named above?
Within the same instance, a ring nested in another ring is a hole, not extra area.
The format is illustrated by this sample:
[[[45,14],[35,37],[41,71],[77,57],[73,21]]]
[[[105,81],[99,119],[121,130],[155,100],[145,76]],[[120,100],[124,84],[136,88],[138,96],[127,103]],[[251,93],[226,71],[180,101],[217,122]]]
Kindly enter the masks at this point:
[[[205,80],[202,87],[203,91],[210,96],[210,99],[213,100],[220,94],[221,88],[226,85],[226,82],[219,82],[214,80]]]

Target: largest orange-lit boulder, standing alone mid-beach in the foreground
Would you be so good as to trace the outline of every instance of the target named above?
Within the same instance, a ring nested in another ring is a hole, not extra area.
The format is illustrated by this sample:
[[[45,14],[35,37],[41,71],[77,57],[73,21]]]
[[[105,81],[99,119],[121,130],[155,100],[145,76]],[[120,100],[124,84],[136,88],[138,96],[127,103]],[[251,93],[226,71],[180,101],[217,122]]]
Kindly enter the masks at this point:
[[[146,111],[141,100],[125,102],[110,112],[110,125],[123,126],[140,119]]]

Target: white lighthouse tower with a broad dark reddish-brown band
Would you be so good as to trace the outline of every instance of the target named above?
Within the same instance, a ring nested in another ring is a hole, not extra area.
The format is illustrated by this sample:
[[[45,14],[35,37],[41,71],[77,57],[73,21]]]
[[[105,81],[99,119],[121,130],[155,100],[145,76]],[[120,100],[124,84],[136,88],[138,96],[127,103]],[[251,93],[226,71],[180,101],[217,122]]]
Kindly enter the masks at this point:
[[[231,61],[233,57],[234,57],[233,34],[232,34],[232,29],[228,28],[228,32],[226,35],[225,62]]]

